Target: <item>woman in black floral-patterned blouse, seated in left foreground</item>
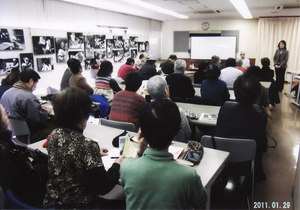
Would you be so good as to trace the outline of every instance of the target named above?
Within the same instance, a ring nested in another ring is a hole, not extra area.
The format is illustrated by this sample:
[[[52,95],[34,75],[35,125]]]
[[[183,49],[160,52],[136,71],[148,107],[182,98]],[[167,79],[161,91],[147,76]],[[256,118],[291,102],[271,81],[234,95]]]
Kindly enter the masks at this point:
[[[67,88],[53,99],[59,128],[47,146],[49,179],[45,208],[97,208],[98,194],[109,192],[120,177],[121,156],[106,172],[101,156],[107,149],[83,136],[92,100],[80,88]]]

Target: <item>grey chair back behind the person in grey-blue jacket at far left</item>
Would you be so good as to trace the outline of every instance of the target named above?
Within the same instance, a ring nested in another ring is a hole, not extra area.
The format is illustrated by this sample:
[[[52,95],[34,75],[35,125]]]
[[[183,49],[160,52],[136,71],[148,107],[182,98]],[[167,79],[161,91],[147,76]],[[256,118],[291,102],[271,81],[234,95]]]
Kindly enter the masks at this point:
[[[12,131],[15,136],[27,136],[27,144],[30,144],[30,130],[25,120],[19,120],[9,117],[9,129]],[[15,141],[14,143],[21,143]],[[23,144],[23,143],[21,143]]]

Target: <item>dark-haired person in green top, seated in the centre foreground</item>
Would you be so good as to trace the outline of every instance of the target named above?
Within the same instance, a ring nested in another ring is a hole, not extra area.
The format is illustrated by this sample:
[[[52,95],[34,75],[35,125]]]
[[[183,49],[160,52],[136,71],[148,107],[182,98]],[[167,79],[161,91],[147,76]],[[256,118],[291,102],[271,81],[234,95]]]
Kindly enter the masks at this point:
[[[199,175],[195,169],[176,163],[168,152],[180,127],[176,104],[168,99],[150,102],[139,121],[141,157],[124,159],[120,168],[126,209],[204,208],[207,194]]]

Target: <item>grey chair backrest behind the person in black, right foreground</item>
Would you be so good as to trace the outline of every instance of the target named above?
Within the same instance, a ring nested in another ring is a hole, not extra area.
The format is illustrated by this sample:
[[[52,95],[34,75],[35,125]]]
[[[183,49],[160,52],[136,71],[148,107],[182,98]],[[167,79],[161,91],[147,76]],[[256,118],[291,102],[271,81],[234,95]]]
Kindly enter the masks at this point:
[[[256,154],[256,142],[253,139],[237,139],[214,137],[216,148],[230,153],[229,162],[238,163],[254,160]],[[204,147],[214,148],[211,136],[204,135],[201,138]]]

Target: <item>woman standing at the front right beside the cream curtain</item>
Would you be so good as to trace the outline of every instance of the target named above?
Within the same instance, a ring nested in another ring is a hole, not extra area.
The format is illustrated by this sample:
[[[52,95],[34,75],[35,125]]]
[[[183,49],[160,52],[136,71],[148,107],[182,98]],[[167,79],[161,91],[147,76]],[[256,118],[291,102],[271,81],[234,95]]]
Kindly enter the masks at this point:
[[[286,42],[281,40],[278,44],[278,49],[275,52],[273,61],[276,73],[276,82],[278,90],[281,92],[284,85],[284,74],[289,59],[289,51],[286,49]]]

